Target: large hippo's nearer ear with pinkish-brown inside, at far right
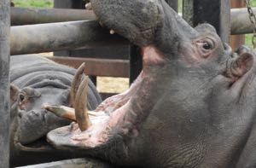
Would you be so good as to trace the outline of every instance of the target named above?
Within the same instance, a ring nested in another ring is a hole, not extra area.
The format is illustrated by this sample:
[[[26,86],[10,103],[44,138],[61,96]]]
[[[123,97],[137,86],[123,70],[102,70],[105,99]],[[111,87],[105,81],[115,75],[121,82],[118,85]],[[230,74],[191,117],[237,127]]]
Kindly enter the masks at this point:
[[[229,78],[241,78],[253,67],[253,55],[244,52],[236,59],[230,61],[227,67],[226,76]]]

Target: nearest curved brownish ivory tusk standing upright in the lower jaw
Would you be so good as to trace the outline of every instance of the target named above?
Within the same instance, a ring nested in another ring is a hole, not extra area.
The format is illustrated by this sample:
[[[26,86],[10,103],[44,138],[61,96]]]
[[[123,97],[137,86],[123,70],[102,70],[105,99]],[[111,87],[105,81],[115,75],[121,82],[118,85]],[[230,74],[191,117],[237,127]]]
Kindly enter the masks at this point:
[[[74,102],[76,120],[79,124],[79,129],[82,131],[87,130],[91,125],[87,113],[87,90],[88,77],[85,77],[82,83],[79,85],[79,90],[77,91]]]

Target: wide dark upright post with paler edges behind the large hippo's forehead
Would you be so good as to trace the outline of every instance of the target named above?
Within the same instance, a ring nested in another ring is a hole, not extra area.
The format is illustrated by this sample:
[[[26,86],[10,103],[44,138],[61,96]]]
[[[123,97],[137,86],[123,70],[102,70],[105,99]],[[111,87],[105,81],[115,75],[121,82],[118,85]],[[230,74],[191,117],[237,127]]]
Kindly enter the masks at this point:
[[[230,1],[229,0],[186,0],[183,1],[183,18],[191,26],[209,23],[215,27],[219,37],[229,43]]]

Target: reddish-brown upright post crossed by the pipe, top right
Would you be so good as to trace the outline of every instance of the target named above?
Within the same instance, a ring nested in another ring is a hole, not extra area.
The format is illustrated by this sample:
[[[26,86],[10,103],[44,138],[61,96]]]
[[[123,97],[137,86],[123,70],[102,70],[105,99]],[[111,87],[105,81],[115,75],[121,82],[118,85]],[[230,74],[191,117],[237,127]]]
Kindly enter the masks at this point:
[[[230,0],[231,8],[242,8],[245,7],[244,0]],[[238,46],[245,43],[245,35],[231,35],[230,46],[232,49],[236,49]]]

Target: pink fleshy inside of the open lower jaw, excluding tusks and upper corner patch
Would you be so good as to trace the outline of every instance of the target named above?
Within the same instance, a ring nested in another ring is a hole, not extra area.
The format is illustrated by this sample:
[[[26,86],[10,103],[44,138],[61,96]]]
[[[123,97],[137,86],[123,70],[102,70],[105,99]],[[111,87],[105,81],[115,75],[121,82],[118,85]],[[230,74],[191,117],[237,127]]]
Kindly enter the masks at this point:
[[[138,85],[142,81],[142,74],[143,72],[125,93],[109,97],[96,108],[95,112],[99,113],[99,115],[90,116],[92,125],[88,130],[81,131],[78,124],[73,123],[49,132],[49,142],[53,142],[56,147],[69,144],[71,146],[84,146],[84,148],[94,148],[103,142],[107,142],[109,131],[115,125],[118,125],[120,121],[125,122],[125,113],[129,111],[130,99],[137,92]],[[126,130],[123,129],[123,131],[125,132]],[[58,142],[58,144],[55,144],[55,142]]]

